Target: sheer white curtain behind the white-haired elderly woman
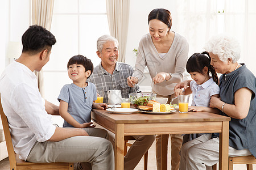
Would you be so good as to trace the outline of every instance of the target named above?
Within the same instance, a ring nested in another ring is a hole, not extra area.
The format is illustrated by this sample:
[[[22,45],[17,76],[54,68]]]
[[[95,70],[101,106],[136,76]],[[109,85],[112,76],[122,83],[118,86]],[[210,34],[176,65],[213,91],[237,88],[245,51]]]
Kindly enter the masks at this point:
[[[240,63],[256,75],[256,1],[176,0],[176,30],[189,42],[189,57],[202,52],[205,42],[218,33],[228,33],[240,41]]]

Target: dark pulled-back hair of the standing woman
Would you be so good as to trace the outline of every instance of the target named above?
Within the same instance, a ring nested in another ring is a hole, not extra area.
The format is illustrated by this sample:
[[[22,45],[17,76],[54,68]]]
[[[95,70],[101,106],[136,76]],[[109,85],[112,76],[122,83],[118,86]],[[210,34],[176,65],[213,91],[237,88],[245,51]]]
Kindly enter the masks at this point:
[[[150,20],[152,19],[158,19],[160,20],[161,22],[163,22],[164,24],[166,24],[168,26],[168,28],[171,29],[172,27],[172,16],[171,16],[171,12],[166,10],[166,9],[163,9],[163,8],[156,8],[154,10],[152,10],[150,12],[150,14],[148,14],[148,24],[150,22]],[[169,29],[169,31],[170,31]],[[168,31],[168,32],[169,32]]]

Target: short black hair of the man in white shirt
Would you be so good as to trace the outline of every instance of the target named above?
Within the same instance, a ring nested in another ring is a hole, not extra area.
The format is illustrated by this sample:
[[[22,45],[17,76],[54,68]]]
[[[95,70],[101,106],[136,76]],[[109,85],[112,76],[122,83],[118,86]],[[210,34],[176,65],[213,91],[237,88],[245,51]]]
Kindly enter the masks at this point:
[[[36,54],[44,49],[51,51],[56,43],[55,36],[46,28],[39,25],[31,25],[22,35],[22,52]]]

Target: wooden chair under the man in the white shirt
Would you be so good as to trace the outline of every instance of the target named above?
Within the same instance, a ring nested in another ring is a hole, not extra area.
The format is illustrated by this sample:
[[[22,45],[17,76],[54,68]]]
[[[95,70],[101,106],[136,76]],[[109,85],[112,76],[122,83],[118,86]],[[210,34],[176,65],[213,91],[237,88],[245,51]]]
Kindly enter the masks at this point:
[[[3,133],[5,134],[6,146],[9,155],[10,169],[67,169],[73,170],[73,163],[30,163],[22,159],[19,159],[19,156],[15,154],[13,148],[13,142],[11,141],[11,134],[9,129],[9,124],[7,117],[3,112],[2,103],[1,103],[1,94],[0,94],[0,114],[3,124]]]

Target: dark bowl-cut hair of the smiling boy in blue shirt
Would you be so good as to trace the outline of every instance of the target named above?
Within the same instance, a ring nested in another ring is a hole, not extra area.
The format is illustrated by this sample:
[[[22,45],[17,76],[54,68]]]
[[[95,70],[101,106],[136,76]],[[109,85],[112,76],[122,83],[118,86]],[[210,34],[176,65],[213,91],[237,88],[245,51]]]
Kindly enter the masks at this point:
[[[85,71],[90,70],[90,72],[91,72],[90,75],[92,75],[92,73],[93,73],[93,63],[92,63],[92,61],[90,61],[89,58],[86,58],[82,55],[73,56],[68,61],[68,67],[73,65],[73,64],[84,66]],[[90,77],[90,75],[88,76],[88,78]]]

